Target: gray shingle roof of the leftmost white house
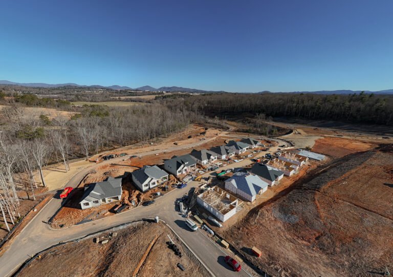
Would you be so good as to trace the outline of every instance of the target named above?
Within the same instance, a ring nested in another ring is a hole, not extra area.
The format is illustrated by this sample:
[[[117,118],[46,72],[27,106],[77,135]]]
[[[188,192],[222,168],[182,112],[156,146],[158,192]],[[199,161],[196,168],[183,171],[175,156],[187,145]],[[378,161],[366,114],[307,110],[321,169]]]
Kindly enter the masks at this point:
[[[121,195],[121,180],[121,178],[108,177],[106,181],[85,186],[81,201],[94,201]]]

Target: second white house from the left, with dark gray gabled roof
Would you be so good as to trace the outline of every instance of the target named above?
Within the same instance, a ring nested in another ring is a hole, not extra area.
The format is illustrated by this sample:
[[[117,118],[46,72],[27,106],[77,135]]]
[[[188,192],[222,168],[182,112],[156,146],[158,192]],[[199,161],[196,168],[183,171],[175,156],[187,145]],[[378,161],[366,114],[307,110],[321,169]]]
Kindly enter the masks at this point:
[[[157,165],[145,165],[131,173],[134,184],[143,192],[168,181],[168,173]]]

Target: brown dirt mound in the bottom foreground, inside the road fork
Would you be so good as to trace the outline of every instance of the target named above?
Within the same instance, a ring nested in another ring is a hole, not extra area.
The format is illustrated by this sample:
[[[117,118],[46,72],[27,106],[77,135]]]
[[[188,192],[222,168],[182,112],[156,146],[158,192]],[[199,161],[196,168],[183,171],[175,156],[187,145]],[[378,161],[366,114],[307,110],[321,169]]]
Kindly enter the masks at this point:
[[[52,248],[32,261],[18,276],[132,276],[156,236],[158,239],[148,252],[138,276],[209,276],[197,258],[163,223],[138,222],[116,232],[117,236],[106,244],[94,243],[93,238],[87,238]],[[99,237],[105,235],[108,233]],[[179,247],[181,258],[168,248],[167,235]],[[177,267],[178,263],[186,268],[185,271]]]

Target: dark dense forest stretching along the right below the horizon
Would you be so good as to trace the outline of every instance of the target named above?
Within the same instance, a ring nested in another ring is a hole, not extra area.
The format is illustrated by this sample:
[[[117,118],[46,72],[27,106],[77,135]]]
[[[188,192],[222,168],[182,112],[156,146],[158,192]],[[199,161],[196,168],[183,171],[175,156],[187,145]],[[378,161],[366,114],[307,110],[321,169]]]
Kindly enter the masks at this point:
[[[158,98],[158,97],[157,97]],[[236,114],[340,120],[393,125],[393,95],[203,94],[162,99],[171,109],[199,111],[222,118]]]

